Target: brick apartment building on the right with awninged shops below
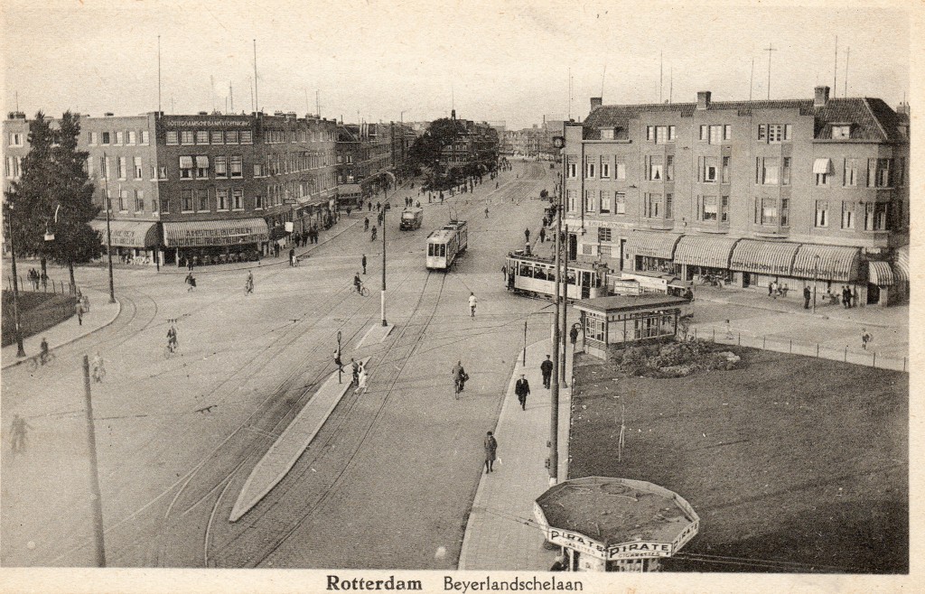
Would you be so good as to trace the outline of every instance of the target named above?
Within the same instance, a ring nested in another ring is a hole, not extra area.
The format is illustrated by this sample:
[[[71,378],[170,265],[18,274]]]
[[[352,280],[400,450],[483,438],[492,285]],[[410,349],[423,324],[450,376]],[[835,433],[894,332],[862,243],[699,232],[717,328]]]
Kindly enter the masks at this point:
[[[602,105],[566,123],[569,257],[611,271],[908,295],[907,108],[880,99]]]

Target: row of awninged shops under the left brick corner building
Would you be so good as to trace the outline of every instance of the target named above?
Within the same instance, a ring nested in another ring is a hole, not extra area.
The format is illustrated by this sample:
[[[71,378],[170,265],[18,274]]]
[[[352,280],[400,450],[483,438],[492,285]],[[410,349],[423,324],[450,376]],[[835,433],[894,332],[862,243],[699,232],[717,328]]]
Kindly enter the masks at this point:
[[[293,234],[327,229],[337,221],[334,200],[294,206],[271,217],[165,222],[110,220],[109,237],[114,261],[185,266],[257,261],[286,247]],[[106,222],[94,220],[93,229],[106,245]]]

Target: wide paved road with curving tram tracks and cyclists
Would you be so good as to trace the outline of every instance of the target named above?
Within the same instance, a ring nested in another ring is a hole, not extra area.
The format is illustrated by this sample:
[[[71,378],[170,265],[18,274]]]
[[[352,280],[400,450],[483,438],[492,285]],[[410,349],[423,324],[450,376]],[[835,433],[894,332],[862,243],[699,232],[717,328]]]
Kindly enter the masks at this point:
[[[181,271],[117,271],[123,312],[112,326],[61,349],[54,370],[4,373],[5,416],[27,416],[33,429],[24,455],[4,450],[0,460],[2,563],[92,562],[80,357],[99,350],[108,376],[93,396],[109,564],[455,566],[480,436],[494,425],[521,345],[515,329],[541,307],[498,282],[501,255],[519,246],[524,221],[541,216],[538,200],[512,206],[511,198],[551,188],[547,170],[531,170],[518,165],[498,192],[487,182],[451,200],[473,231],[448,275],[425,273],[422,246],[450,204],[425,207],[424,227],[412,233],[397,231],[398,209],[389,213],[396,330],[360,351],[374,357],[370,389],[345,398],[290,477],[233,525],[228,512],[253,464],[333,369],[336,333],[349,353],[378,322],[381,244],[354,214],[299,268],[254,269],[250,297],[241,271],[203,268],[191,293]],[[484,200],[492,200],[487,220]],[[373,297],[351,294],[362,253]],[[79,276],[105,286],[100,270]],[[480,300],[475,320],[470,290]],[[179,320],[181,353],[165,359],[170,319]],[[545,332],[536,325],[531,340]],[[449,372],[461,356],[473,381],[457,403]],[[435,556],[438,547],[446,554]]]

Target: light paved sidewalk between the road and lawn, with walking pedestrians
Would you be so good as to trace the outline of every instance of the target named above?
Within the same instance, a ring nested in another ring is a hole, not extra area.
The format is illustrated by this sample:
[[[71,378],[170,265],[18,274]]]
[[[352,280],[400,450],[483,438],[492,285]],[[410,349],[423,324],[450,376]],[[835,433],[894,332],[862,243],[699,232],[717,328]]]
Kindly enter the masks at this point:
[[[498,439],[495,471],[482,473],[462,540],[459,569],[547,571],[558,550],[544,547],[543,532],[533,517],[534,500],[549,489],[549,406],[539,365],[551,355],[549,340],[526,349],[526,367],[518,358],[494,434]],[[566,378],[572,385],[572,353],[566,357]],[[531,394],[522,410],[514,382],[525,373]],[[572,391],[560,390],[559,480],[567,479],[568,436]]]

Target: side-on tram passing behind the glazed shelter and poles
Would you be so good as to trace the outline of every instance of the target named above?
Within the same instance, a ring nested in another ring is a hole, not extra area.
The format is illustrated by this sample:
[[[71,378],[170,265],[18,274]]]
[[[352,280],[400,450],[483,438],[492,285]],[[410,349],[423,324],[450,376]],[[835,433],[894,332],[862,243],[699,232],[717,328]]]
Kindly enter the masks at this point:
[[[508,255],[504,266],[508,276],[509,291],[533,297],[552,297],[555,294],[555,261],[527,256],[524,250],[518,249]],[[607,268],[585,262],[570,262],[566,274],[566,286],[568,286],[566,298],[569,299],[606,297]]]

